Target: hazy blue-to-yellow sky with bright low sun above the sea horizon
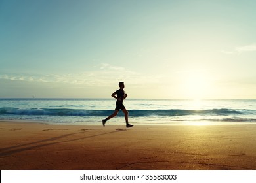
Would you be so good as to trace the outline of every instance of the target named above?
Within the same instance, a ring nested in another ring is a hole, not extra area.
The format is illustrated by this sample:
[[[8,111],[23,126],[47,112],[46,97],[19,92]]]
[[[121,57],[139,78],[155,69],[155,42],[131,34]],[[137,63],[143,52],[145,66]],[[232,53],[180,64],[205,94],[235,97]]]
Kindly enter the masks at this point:
[[[1,0],[0,98],[256,99],[255,7]]]

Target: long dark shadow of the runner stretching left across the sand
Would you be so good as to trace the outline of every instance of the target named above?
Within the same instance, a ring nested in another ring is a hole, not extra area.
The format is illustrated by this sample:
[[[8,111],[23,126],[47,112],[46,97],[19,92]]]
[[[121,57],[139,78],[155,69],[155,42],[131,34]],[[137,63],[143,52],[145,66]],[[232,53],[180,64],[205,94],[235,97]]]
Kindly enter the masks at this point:
[[[41,148],[41,147],[44,147],[44,146],[51,146],[51,145],[54,145],[54,144],[61,144],[61,143],[64,143],[64,142],[78,141],[78,140],[81,140],[81,139],[89,139],[89,138],[98,137],[98,136],[102,136],[102,135],[107,135],[107,134],[110,134],[110,133],[117,133],[119,131],[125,131],[125,130],[126,129],[116,129],[116,131],[110,131],[110,132],[107,132],[107,133],[100,133],[100,134],[96,134],[96,135],[89,135],[89,136],[86,136],[86,137],[79,137],[79,138],[75,138],[75,139],[53,142],[53,141],[56,141],[56,140],[59,140],[59,139],[65,138],[65,137],[69,137],[69,136],[72,136],[72,135],[75,135],[75,134],[87,133],[87,131],[64,134],[64,135],[60,135],[58,137],[43,139],[41,141],[31,142],[31,143],[27,143],[27,144],[20,144],[20,145],[17,145],[17,146],[10,146],[10,147],[7,147],[7,148],[1,148],[0,149],[0,157],[1,156],[9,156],[11,154],[15,154],[15,153],[18,153],[18,152],[23,152],[23,151],[26,151],[26,150],[32,150],[32,149],[35,149],[35,148]]]

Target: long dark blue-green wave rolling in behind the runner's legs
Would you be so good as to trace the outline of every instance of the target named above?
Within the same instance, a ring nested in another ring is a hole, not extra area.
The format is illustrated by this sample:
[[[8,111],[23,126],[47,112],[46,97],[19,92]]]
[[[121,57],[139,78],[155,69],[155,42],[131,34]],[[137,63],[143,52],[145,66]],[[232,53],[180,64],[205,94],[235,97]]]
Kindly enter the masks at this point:
[[[18,115],[53,115],[53,116],[106,116],[111,114],[113,110],[79,110],[69,108],[0,108],[0,114],[18,114]],[[228,115],[242,115],[253,113],[254,110],[230,110],[226,108],[211,109],[211,110],[129,110],[129,116],[188,116],[188,115],[213,115],[213,116],[228,116]]]

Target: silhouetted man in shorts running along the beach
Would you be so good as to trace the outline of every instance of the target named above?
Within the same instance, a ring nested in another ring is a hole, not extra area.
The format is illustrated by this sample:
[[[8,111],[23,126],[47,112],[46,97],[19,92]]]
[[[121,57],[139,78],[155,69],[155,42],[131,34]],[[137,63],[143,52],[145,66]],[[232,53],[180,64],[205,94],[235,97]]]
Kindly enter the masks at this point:
[[[126,99],[127,94],[125,94],[125,91],[123,90],[125,88],[125,84],[123,82],[119,82],[119,90],[116,90],[116,92],[112,93],[112,97],[116,99],[116,108],[113,114],[108,116],[108,118],[102,120],[103,126],[105,126],[106,122],[110,120],[111,118],[115,117],[119,110],[122,110],[125,114],[125,122],[126,127],[133,127],[133,125],[130,125],[128,122],[128,111],[126,110],[125,106],[123,105],[123,100]]]

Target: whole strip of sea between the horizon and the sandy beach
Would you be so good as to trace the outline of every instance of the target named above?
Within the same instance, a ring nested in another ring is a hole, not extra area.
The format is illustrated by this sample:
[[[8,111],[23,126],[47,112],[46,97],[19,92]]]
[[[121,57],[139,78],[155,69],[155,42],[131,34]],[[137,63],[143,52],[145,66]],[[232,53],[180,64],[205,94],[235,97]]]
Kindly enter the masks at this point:
[[[133,125],[256,123],[256,100],[125,99]],[[102,125],[115,99],[0,99],[0,120]],[[123,112],[106,125],[125,125]]]

